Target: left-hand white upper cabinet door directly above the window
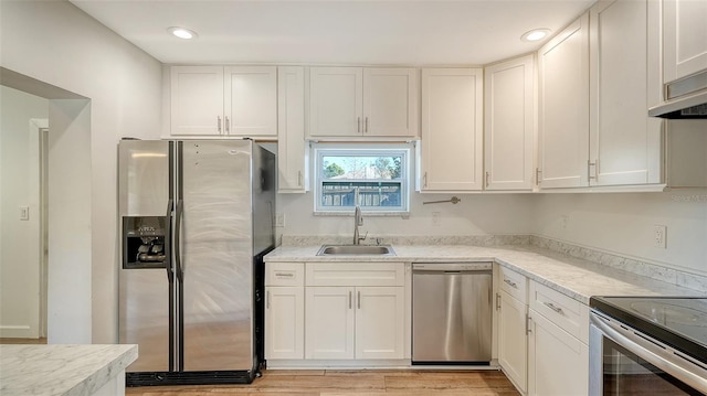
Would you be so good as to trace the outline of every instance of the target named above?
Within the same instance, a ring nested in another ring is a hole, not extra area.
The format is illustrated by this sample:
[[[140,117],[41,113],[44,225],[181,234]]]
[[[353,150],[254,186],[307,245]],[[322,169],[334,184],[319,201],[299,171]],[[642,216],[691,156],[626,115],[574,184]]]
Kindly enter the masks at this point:
[[[309,68],[310,136],[361,136],[362,106],[361,67]]]

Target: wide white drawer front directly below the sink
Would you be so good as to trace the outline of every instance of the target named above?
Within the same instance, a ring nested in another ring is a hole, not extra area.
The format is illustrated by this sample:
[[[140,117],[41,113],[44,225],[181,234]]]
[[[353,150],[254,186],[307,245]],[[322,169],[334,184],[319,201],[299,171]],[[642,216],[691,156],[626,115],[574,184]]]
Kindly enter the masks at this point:
[[[307,286],[404,286],[403,263],[307,263]]]

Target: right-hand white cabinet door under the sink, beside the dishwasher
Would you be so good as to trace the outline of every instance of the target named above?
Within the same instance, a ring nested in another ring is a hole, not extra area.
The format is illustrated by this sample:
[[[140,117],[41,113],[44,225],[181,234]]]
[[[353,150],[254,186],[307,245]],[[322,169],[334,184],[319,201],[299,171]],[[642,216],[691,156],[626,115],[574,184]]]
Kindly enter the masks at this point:
[[[356,358],[402,358],[404,288],[356,288]]]

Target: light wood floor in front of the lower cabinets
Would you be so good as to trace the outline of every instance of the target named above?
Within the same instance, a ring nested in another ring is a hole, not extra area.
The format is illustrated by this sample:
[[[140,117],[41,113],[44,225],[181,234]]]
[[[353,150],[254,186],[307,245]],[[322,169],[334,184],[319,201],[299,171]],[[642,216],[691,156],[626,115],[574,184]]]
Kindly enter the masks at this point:
[[[519,396],[497,371],[265,371],[251,385],[144,386],[126,388],[140,396]]]

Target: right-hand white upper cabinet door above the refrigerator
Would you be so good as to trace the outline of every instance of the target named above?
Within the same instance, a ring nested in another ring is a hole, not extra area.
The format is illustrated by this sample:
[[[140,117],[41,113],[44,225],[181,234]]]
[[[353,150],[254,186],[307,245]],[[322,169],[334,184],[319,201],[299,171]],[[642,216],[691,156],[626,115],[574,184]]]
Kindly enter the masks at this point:
[[[277,137],[277,68],[225,67],[225,132],[240,137]]]

